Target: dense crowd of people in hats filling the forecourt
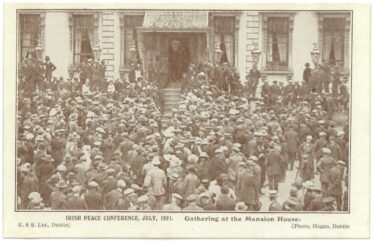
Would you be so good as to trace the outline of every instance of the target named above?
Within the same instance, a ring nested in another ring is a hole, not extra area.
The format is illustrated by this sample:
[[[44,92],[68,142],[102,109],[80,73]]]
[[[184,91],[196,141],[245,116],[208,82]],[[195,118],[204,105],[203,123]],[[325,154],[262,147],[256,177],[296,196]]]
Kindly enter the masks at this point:
[[[97,88],[89,76],[57,80],[39,66],[52,87],[18,84],[20,210],[348,210],[349,126],[337,126],[327,93],[303,99],[265,83],[254,100],[230,82],[233,67],[212,74],[196,64],[162,119],[155,81]]]

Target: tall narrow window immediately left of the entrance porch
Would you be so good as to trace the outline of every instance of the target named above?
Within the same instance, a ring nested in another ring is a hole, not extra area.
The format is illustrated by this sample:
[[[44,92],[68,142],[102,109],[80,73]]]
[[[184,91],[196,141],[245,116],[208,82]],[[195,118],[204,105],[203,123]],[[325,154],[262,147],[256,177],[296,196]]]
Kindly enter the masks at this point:
[[[142,26],[143,15],[126,15],[124,16],[124,55],[123,63],[128,66],[131,61],[130,49],[135,45],[137,58],[139,59],[138,41],[136,27]]]

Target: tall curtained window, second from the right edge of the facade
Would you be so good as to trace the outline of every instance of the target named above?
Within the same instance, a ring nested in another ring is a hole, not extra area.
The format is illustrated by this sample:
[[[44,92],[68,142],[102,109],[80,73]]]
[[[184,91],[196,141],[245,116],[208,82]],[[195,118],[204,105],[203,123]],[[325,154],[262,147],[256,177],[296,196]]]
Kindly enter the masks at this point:
[[[267,22],[266,68],[288,69],[289,18],[269,17]]]

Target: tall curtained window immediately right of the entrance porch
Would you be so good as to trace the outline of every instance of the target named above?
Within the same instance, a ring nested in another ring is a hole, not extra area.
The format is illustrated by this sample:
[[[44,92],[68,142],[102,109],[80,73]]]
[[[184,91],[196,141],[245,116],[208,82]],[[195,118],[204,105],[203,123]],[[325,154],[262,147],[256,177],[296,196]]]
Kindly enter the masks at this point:
[[[235,64],[235,17],[214,18],[214,49],[222,50],[221,63]]]

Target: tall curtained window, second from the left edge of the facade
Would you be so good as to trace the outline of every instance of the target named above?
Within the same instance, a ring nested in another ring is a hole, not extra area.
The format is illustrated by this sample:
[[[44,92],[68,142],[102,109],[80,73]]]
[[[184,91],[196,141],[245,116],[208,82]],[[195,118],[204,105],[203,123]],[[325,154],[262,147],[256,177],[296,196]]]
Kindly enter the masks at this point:
[[[88,58],[94,58],[94,16],[73,16],[73,53],[74,63],[80,63]]]

